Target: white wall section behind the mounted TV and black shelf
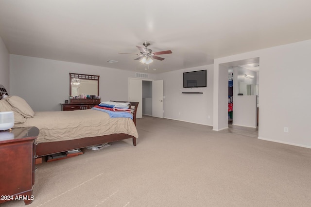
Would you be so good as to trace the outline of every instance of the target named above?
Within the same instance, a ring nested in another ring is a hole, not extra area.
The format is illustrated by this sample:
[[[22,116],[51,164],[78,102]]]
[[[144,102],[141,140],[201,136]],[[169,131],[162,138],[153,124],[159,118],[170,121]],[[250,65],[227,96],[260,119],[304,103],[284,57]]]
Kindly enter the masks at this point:
[[[207,87],[183,88],[183,72],[205,69],[207,69]],[[164,118],[213,125],[213,65],[162,73],[159,74],[158,80],[163,80]],[[203,92],[203,94],[182,94],[182,92]]]

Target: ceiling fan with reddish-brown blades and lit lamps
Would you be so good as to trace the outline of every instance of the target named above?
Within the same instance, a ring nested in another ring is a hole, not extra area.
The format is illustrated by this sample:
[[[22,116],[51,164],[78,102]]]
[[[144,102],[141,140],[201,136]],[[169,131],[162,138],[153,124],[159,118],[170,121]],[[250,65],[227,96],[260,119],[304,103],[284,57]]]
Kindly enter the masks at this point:
[[[140,54],[134,54],[134,53],[119,53],[119,54],[138,55],[140,57],[138,57],[134,60],[138,60],[143,64],[150,64],[153,62],[152,59],[156,59],[159,61],[165,60],[165,58],[161,58],[161,57],[156,56],[156,55],[164,55],[164,54],[171,54],[172,53],[171,50],[165,50],[165,51],[160,51],[160,52],[152,52],[151,49],[147,48],[150,45],[149,42],[144,42],[142,45],[145,46],[145,48],[141,47],[141,46],[136,46],[140,50]]]

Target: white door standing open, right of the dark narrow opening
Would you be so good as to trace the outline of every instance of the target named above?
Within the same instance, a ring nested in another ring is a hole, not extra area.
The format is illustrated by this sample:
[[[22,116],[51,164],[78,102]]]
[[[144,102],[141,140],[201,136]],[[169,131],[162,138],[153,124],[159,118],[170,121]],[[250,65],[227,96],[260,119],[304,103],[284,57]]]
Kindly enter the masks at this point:
[[[163,118],[163,80],[152,81],[152,116]]]

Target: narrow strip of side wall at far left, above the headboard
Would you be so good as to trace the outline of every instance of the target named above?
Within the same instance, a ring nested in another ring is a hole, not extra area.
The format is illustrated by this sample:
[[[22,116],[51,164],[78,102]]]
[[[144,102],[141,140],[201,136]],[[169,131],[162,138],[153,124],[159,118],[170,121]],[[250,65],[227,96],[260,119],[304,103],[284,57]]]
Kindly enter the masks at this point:
[[[8,49],[5,47],[2,38],[0,37],[0,84],[5,87],[5,89],[10,94],[10,56]]]

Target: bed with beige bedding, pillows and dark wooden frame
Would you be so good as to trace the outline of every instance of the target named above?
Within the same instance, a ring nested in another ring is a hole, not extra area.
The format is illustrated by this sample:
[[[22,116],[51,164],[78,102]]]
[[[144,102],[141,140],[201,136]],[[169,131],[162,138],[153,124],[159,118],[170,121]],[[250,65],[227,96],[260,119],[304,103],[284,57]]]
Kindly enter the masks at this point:
[[[0,85],[0,93],[0,97],[8,96],[2,85]],[[111,118],[108,113],[93,109],[33,111],[28,103],[19,96],[2,98],[0,111],[14,111],[14,127],[35,126],[39,128],[40,132],[36,139],[36,155],[41,157],[124,139],[132,139],[133,145],[136,146],[138,102],[129,103],[132,119]]]

